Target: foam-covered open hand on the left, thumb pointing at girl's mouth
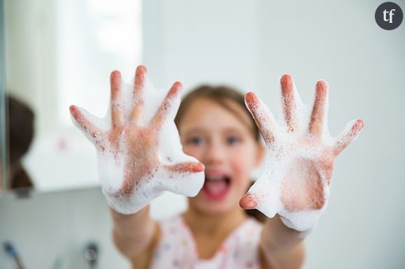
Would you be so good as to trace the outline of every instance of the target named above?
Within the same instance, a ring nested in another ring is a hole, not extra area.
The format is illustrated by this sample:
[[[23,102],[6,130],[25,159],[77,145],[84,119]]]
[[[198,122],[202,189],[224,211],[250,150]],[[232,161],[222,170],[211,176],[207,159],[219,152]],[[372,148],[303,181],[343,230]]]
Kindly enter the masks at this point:
[[[138,66],[135,83],[111,73],[110,109],[104,119],[71,106],[73,123],[96,146],[98,174],[108,204],[132,214],[168,190],[195,196],[204,183],[204,165],[185,155],[173,119],[182,84],[159,96],[147,70]],[[164,98],[162,102],[159,102]]]

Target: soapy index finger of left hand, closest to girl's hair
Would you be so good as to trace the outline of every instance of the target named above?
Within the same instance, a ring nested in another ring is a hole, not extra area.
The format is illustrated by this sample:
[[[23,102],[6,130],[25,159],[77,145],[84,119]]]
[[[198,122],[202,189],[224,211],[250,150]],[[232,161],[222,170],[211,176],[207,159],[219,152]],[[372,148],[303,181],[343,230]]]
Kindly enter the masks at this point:
[[[168,94],[165,97],[165,100],[163,100],[158,111],[152,118],[151,125],[153,128],[159,130],[166,118],[169,118],[170,116],[172,116],[172,118],[175,118],[175,115],[180,105],[181,91],[182,91],[182,84],[180,82],[175,82],[172,88],[170,88]]]

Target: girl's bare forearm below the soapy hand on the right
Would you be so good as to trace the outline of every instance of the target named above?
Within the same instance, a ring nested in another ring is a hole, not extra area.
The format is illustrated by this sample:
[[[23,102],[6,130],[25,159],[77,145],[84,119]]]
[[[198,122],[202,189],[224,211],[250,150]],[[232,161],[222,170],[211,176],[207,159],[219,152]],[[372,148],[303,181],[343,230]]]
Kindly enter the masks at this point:
[[[260,251],[272,268],[300,268],[304,261],[304,233],[288,228],[280,216],[267,219]]]

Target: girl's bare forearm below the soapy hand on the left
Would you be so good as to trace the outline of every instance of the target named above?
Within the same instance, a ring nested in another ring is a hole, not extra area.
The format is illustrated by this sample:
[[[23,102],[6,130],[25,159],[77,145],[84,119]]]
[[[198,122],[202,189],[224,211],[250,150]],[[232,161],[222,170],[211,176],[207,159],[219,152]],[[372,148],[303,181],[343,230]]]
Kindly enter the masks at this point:
[[[149,206],[132,215],[122,215],[110,208],[113,238],[119,251],[133,259],[152,245],[157,224],[149,216]]]

